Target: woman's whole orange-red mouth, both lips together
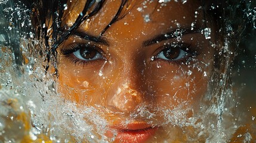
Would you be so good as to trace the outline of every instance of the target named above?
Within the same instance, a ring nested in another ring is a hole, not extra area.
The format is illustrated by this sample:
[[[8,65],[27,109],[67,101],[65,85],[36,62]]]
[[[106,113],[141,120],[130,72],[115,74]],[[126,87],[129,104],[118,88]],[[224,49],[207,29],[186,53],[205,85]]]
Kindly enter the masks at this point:
[[[144,122],[134,122],[127,126],[113,126],[117,129],[117,135],[114,142],[145,142],[153,136],[158,127],[153,127]]]

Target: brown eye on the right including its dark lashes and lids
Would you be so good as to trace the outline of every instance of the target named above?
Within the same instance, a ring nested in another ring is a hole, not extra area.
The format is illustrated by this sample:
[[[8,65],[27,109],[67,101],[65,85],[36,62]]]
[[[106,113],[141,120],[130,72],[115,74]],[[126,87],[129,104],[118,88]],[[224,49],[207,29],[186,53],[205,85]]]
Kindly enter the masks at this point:
[[[195,57],[197,52],[191,45],[185,43],[171,43],[160,48],[156,56],[156,60],[165,60],[169,63],[186,63],[191,57]]]

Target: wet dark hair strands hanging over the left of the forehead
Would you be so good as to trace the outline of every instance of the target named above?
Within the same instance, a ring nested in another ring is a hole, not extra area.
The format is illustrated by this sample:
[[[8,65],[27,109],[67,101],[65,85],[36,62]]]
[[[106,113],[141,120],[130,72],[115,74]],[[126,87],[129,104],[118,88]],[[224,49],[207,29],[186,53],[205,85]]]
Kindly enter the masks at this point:
[[[44,46],[47,48],[47,60],[50,62],[50,58],[56,57],[56,49],[60,44],[72,35],[72,32],[77,29],[81,23],[93,15],[97,14],[101,10],[106,0],[88,0],[85,3],[84,9],[76,18],[75,23],[68,30],[64,31],[61,27],[61,18],[63,18],[64,8],[67,7],[68,1],[63,0],[39,0],[26,2],[30,4],[29,7],[32,10],[33,25],[35,27],[35,33],[38,39],[43,39]],[[113,24],[115,21],[123,18],[125,14],[122,14],[122,10],[129,5],[128,0],[122,0],[118,11],[112,18],[109,24],[103,29],[98,37],[103,35],[104,32]],[[52,20],[50,24],[48,21]],[[47,32],[51,29],[51,34]],[[42,36],[42,37],[41,37]],[[49,39],[51,37],[51,42]],[[50,45],[51,43],[51,45]],[[46,66],[46,71],[49,65]],[[55,66],[56,67],[56,66]],[[57,69],[56,69],[57,70]]]

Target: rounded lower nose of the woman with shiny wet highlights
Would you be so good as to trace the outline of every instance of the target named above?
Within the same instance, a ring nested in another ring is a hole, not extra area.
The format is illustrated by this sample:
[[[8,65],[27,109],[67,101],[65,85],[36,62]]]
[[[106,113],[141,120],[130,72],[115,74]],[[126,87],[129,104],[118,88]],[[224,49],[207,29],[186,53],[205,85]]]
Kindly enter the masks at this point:
[[[110,86],[106,95],[107,108],[114,112],[131,112],[143,102],[140,83],[135,76],[123,73]]]

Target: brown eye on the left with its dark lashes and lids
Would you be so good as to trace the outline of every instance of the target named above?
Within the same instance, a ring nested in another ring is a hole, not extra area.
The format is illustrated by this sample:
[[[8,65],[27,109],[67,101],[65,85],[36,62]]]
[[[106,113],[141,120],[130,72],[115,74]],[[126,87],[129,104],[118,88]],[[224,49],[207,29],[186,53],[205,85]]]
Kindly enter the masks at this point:
[[[90,43],[72,43],[61,49],[61,54],[75,63],[90,63],[97,60],[106,60],[103,51]]]

